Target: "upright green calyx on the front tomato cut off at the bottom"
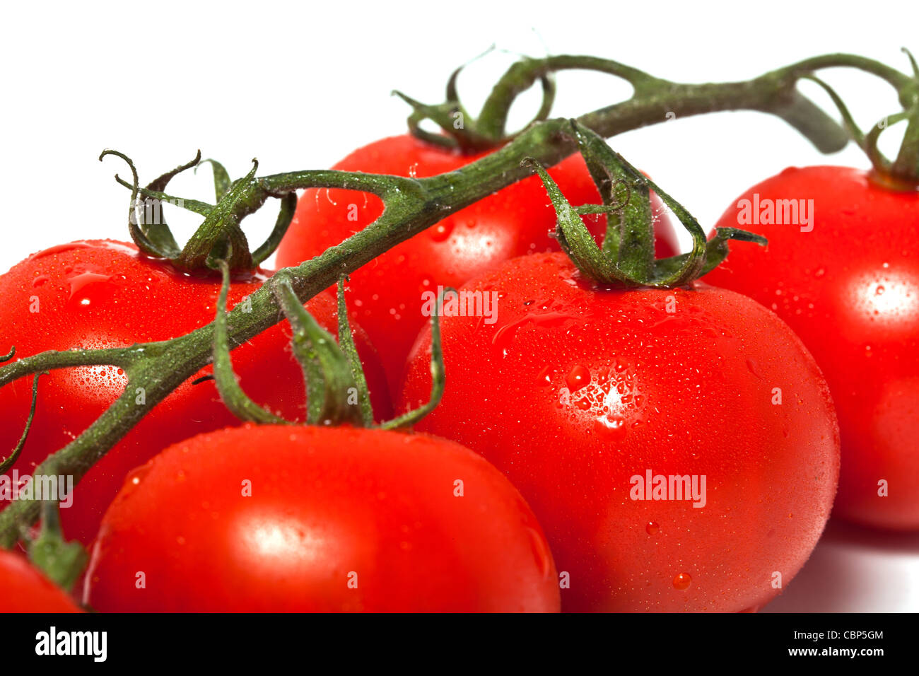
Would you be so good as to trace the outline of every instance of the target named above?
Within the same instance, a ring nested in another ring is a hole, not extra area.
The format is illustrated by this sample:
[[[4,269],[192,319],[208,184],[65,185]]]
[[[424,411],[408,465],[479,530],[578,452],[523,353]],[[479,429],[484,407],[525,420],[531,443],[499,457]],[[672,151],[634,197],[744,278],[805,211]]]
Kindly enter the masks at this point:
[[[291,421],[260,407],[240,387],[233,372],[227,327],[227,294],[230,289],[230,269],[225,260],[216,261],[223,283],[217,301],[214,322],[214,381],[221,399],[237,418],[267,425],[290,425]],[[338,340],[313,318],[300,301],[291,275],[278,272],[271,281],[272,292],[281,311],[293,329],[291,347],[301,365],[306,385],[307,425],[352,425],[361,428],[393,430],[410,427],[430,413],[444,391],[444,357],[440,348],[439,314],[443,297],[431,317],[431,374],[433,384],[428,402],[398,418],[379,425],[374,423],[373,408],[367,378],[357,354],[351,333],[345,302],[346,275],[338,280]]]

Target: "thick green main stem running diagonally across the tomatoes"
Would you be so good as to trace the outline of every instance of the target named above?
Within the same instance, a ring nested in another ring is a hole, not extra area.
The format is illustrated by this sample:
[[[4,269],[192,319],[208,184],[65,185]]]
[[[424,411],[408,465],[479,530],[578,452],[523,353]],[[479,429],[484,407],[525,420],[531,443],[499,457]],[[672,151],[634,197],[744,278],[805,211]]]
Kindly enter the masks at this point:
[[[556,70],[560,64],[565,63],[564,57],[552,58],[555,61],[549,63]],[[844,63],[846,61],[849,63]],[[531,62],[528,60],[525,63]],[[642,77],[634,69],[627,71],[624,70],[625,66],[617,64],[617,74],[628,75],[638,83],[634,96],[588,113],[578,118],[577,123],[601,136],[609,137],[664,121],[667,112],[682,117],[718,110],[761,110],[789,121],[821,151],[834,152],[845,146],[848,140],[845,130],[803,97],[795,85],[802,75],[815,68],[846,64],[868,69],[868,60],[836,54],[793,64],[747,82],[683,85],[652,78],[650,75]],[[896,79],[886,66],[874,64],[870,68],[886,79]],[[610,66],[610,70],[614,70],[614,67]],[[532,76],[539,78],[539,73]],[[488,110],[485,112],[488,113]],[[488,121],[489,114],[485,116],[486,123],[496,127],[497,122]],[[321,256],[305,261],[300,266],[284,269],[291,288],[301,303],[305,303],[312,296],[334,285],[342,274],[353,272],[449,214],[529,176],[530,169],[521,166],[525,157],[533,157],[543,166],[553,166],[571,155],[577,149],[577,143],[571,138],[570,129],[570,122],[562,119],[533,124],[493,154],[459,171],[431,178],[311,170],[241,181],[238,184],[241,186],[240,194],[231,196],[233,190],[230,190],[224,197],[233,197],[235,207],[233,213],[229,214],[231,218],[223,223],[239,223],[242,216],[255,211],[268,197],[284,197],[298,189],[350,189],[370,192],[380,197],[385,208],[374,223],[341,244],[327,249]],[[143,194],[142,190],[140,192]],[[226,316],[227,338],[233,346],[241,345],[277,324],[284,316],[271,284],[263,285],[251,295],[250,300],[251,310],[244,312],[242,308],[236,307]],[[107,453],[144,415],[211,360],[214,333],[215,325],[211,323],[165,342],[121,349],[44,352],[0,368],[0,386],[29,373],[89,364],[117,365],[128,376],[124,393],[83,434],[60,451],[52,453],[36,468],[35,473],[73,475],[74,482],[79,481],[96,460]],[[138,396],[139,391],[144,396]],[[0,511],[0,546],[10,547],[15,544],[19,538],[20,526],[35,522],[39,515],[38,501],[17,500],[10,503],[5,510]]]

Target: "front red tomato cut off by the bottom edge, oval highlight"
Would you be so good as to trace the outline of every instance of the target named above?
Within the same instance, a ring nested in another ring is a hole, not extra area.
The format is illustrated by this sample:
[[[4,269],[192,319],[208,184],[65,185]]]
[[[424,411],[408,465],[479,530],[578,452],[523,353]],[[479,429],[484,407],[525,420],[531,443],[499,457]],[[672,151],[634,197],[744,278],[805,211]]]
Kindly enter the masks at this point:
[[[419,434],[284,426],[200,435],[133,473],[103,521],[85,601],[215,612],[560,604],[539,523],[481,456]]]

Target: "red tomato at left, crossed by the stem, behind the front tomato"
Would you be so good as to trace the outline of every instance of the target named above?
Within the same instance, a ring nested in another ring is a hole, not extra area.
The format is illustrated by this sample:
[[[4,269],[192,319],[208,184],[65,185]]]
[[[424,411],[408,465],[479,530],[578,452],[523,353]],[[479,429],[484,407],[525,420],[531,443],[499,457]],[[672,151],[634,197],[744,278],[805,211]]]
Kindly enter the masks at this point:
[[[229,305],[255,292],[264,276],[233,283]],[[48,349],[107,348],[175,338],[213,321],[220,284],[181,275],[138,255],[134,246],[111,241],[74,242],[35,254],[0,276],[0,325],[16,357]],[[307,308],[333,333],[335,299],[326,293]],[[391,406],[376,354],[353,327],[377,411]],[[305,416],[300,366],[282,322],[233,350],[233,367],[246,394],[288,419]],[[195,378],[210,373],[210,367]],[[61,510],[68,539],[88,544],[124,476],[169,443],[202,431],[238,424],[213,382],[181,384],[155,407],[74,488],[73,504]],[[79,367],[42,375],[35,421],[13,470],[30,475],[117,398],[126,377],[115,367]],[[11,449],[22,433],[31,402],[31,377],[0,389],[0,448]],[[0,509],[6,504],[0,501]]]

